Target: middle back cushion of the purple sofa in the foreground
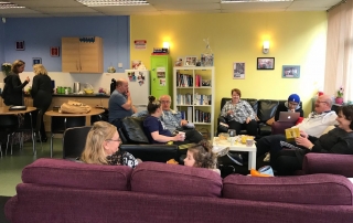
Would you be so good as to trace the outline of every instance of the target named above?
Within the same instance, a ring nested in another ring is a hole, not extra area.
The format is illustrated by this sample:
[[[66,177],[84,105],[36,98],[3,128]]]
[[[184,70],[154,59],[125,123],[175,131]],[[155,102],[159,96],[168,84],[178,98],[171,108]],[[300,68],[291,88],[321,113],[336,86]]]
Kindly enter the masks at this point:
[[[222,178],[204,169],[160,162],[142,162],[131,174],[131,191],[168,194],[221,197]]]

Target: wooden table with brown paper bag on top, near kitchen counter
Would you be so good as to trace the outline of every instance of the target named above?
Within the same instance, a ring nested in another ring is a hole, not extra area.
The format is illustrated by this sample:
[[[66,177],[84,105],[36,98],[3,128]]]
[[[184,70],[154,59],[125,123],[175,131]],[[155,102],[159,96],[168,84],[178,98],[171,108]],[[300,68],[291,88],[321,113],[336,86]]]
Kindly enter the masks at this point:
[[[100,109],[100,108],[92,108],[92,110],[89,113],[85,113],[85,114],[71,114],[71,113],[58,113],[58,112],[54,112],[54,110],[49,110],[45,113],[46,116],[50,116],[52,118],[52,127],[53,127],[53,118],[55,117],[61,117],[65,119],[66,123],[66,118],[81,118],[81,117],[86,117],[86,126],[90,126],[90,116],[94,115],[99,115],[103,114],[105,110]],[[79,126],[84,126],[84,125],[75,125],[75,126],[69,126],[69,127],[79,127]],[[66,129],[66,126],[64,126],[64,129]],[[53,157],[53,129],[51,128],[51,158]]]

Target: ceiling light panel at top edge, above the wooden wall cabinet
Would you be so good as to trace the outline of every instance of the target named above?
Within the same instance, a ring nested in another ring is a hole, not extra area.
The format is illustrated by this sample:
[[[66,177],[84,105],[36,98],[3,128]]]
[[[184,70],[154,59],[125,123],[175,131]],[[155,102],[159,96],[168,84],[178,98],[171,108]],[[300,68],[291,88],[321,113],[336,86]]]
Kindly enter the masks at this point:
[[[87,7],[111,7],[111,6],[147,6],[145,0],[76,0]]]

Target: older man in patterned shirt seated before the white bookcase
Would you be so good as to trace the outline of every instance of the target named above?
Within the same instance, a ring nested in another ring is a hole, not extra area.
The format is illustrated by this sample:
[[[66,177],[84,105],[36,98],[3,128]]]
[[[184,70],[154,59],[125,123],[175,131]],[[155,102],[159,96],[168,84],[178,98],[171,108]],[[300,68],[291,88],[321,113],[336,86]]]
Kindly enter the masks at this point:
[[[170,108],[171,97],[169,95],[162,95],[159,100],[162,104],[163,110],[161,120],[171,132],[174,132],[175,130],[185,131],[185,140],[197,144],[203,139],[202,135],[194,129],[192,124],[189,124],[188,120],[182,119],[179,112]]]

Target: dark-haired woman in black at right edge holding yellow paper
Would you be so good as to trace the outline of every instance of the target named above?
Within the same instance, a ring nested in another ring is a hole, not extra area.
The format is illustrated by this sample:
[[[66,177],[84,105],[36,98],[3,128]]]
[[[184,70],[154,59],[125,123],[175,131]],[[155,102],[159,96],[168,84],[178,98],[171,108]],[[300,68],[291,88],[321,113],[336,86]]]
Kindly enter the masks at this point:
[[[353,105],[338,108],[339,126],[320,138],[300,131],[296,142],[287,145],[289,150],[281,150],[276,159],[276,169],[280,176],[293,174],[301,170],[302,160],[308,152],[353,155]]]

